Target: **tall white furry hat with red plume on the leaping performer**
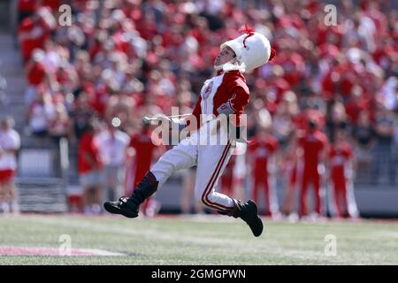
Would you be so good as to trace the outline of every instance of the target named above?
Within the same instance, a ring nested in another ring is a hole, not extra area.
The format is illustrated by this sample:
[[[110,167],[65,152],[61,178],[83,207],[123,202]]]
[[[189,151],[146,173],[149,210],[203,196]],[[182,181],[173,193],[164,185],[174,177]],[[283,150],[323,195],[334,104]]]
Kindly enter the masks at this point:
[[[220,45],[220,49],[228,46],[236,54],[236,59],[243,72],[251,72],[264,65],[275,56],[275,50],[271,48],[270,41],[264,36],[245,25],[242,30],[245,34]]]

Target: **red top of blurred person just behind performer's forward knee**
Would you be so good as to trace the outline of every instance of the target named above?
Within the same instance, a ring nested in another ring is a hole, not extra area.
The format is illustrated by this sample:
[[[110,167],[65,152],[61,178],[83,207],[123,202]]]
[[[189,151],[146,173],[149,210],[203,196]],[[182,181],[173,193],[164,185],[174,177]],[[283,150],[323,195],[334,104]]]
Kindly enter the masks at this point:
[[[156,145],[150,139],[150,133],[140,133],[132,136],[130,147],[135,149],[135,180],[140,181],[149,171]]]

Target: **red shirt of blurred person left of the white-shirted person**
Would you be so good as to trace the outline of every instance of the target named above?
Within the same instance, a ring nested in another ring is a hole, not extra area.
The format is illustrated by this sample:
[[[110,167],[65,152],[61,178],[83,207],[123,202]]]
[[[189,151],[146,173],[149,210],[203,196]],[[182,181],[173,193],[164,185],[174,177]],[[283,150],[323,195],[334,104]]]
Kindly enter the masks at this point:
[[[79,142],[78,152],[78,165],[80,173],[90,172],[102,166],[103,163],[100,158],[98,145],[96,144],[93,134],[83,134]],[[86,154],[94,161],[96,168],[93,168],[93,166],[88,162]]]

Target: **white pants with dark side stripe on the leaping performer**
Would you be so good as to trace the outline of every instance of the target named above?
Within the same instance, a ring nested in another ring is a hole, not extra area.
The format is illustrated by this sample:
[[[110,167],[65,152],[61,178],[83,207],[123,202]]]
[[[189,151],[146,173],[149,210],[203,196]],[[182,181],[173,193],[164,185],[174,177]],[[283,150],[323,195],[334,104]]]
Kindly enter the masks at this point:
[[[197,165],[195,199],[213,210],[232,210],[233,199],[216,192],[215,187],[233,153],[235,142],[226,139],[226,144],[199,145],[198,141],[203,136],[207,138],[204,127],[168,150],[150,172],[159,181],[158,187],[161,187],[173,172]]]

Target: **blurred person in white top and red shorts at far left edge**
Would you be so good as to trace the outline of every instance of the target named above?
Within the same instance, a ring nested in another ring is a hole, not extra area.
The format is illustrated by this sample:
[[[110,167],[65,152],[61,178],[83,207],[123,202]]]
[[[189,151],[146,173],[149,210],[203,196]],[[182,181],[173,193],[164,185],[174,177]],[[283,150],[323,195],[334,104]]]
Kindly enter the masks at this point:
[[[18,213],[14,175],[20,138],[13,126],[14,120],[10,117],[0,120],[0,211]]]

